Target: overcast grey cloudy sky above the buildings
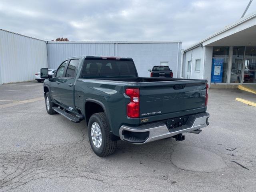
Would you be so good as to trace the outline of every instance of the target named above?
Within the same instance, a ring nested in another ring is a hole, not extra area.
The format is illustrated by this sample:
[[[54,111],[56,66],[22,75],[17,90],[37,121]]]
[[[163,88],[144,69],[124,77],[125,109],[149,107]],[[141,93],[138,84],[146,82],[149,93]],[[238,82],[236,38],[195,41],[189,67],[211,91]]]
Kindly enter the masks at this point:
[[[186,48],[238,20],[248,2],[0,0],[0,28],[49,41],[182,40]]]

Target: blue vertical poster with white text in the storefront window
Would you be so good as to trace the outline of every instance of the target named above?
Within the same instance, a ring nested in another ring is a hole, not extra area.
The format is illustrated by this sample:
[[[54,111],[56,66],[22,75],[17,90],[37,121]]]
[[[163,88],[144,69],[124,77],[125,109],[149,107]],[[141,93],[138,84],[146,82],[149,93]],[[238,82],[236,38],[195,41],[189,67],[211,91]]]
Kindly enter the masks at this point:
[[[221,83],[223,74],[224,58],[212,58],[212,78],[211,82]]]

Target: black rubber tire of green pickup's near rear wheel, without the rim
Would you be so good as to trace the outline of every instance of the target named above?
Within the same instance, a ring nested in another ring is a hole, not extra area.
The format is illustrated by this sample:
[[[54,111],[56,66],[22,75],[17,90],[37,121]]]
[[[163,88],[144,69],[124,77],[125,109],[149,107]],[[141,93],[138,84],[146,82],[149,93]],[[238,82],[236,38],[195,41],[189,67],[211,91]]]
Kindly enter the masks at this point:
[[[102,134],[102,144],[100,147],[96,147],[92,141],[91,128],[92,124],[96,122],[100,126],[101,134]],[[112,141],[110,139],[109,127],[106,121],[105,113],[95,113],[93,114],[88,123],[88,137],[90,141],[90,145],[94,153],[100,157],[109,156],[116,150],[117,141]]]

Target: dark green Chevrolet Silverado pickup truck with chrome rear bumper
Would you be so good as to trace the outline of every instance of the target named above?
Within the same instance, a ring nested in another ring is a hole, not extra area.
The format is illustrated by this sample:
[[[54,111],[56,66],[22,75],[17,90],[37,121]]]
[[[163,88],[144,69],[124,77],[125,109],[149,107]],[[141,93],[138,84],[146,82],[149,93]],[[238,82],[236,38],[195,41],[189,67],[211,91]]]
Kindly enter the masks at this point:
[[[48,114],[85,120],[92,150],[108,156],[117,140],[134,144],[200,133],[209,114],[207,80],[138,77],[132,58],[67,58],[54,75],[41,69]]]

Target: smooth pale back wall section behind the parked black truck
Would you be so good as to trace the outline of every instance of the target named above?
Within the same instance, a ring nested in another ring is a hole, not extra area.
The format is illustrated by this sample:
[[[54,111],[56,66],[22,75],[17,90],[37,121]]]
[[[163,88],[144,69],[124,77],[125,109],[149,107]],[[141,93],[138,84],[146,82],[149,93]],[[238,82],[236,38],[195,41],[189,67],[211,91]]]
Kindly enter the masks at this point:
[[[180,66],[179,46],[179,66]],[[172,69],[174,77],[177,71],[177,51],[178,43],[122,43],[118,44],[118,56],[131,57],[136,65],[140,77],[149,77],[154,65],[160,65],[160,62],[168,62]]]

